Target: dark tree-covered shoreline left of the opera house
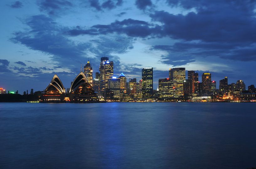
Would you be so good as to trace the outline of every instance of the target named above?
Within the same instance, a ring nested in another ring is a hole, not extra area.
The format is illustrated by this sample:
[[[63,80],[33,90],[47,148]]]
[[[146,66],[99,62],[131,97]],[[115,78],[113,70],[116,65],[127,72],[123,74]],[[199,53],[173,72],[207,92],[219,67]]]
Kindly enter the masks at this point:
[[[34,94],[0,94],[0,102],[26,102],[38,101],[39,96],[42,96],[40,91]]]

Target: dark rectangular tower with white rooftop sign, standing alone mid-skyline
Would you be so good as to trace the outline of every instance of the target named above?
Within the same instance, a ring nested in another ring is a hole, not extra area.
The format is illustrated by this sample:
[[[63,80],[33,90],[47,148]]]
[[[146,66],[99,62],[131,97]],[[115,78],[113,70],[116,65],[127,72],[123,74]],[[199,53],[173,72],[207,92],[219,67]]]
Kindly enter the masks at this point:
[[[153,68],[142,69],[142,98],[152,99],[153,97]]]

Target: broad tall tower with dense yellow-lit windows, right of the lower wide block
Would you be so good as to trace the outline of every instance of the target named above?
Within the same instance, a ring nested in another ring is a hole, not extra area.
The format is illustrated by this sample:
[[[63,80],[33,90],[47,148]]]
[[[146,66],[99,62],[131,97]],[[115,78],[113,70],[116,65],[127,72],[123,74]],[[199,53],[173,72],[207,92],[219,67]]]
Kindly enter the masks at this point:
[[[173,68],[169,70],[169,78],[173,80],[175,87],[174,97],[180,97],[184,95],[183,83],[186,80],[185,68]]]

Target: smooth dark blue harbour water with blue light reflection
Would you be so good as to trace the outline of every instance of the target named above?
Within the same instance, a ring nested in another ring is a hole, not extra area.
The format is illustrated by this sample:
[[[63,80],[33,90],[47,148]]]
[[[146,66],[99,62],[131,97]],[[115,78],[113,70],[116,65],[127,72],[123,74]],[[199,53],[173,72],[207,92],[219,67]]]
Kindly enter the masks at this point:
[[[256,167],[255,103],[0,103],[0,168]]]

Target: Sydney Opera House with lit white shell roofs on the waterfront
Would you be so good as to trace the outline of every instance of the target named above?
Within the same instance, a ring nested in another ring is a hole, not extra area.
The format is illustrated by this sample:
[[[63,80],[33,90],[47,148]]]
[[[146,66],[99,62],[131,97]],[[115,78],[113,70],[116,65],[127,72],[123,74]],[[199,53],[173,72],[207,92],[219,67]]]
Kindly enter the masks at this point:
[[[65,88],[57,75],[54,75],[44,91],[40,102],[97,102],[97,94],[89,84],[83,72],[80,72],[71,84],[70,90]]]

